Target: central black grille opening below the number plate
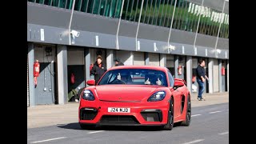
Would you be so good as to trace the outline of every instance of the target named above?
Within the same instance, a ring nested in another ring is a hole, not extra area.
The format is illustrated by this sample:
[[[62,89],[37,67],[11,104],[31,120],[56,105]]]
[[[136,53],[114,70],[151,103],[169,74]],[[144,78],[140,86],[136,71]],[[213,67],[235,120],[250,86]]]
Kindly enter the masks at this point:
[[[100,123],[106,124],[139,124],[132,115],[103,115]]]

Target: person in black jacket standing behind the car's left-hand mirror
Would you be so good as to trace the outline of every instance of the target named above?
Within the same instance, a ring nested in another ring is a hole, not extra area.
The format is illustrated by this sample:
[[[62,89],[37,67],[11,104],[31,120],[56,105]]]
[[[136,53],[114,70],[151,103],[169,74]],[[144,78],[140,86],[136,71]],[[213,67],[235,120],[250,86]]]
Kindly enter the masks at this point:
[[[99,79],[106,72],[106,66],[102,63],[102,57],[97,57],[97,62],[94,63],[93,68],[90,70],[90,74],[94,74],[95,84],[98,83]]]

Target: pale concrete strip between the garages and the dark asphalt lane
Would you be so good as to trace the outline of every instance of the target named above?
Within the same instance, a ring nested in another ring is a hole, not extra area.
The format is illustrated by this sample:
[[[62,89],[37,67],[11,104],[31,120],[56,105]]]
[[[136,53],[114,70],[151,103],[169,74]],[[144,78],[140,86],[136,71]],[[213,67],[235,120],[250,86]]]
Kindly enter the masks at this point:
[[[198,101],[197,94],[191,95],[191,106],[210,106],[229,102],[229,93],[203,94],[206,101]],[[27,128],[54,126],[78,122],[78,102],[65,105],[38,105],[27,108]]]

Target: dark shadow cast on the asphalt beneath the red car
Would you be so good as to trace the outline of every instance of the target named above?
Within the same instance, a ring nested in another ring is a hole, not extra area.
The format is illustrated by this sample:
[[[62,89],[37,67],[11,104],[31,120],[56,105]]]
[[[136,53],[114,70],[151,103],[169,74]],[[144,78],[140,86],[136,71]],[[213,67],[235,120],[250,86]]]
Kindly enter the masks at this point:
[[[176,127],[177,124],[174,124]],[[58,126],[62,129],[82,130],[78,122],[68,123]],[[87,130],[122,130],[122,131],[159,131],[162,130],[160,126],[96,126],[94,129]]]

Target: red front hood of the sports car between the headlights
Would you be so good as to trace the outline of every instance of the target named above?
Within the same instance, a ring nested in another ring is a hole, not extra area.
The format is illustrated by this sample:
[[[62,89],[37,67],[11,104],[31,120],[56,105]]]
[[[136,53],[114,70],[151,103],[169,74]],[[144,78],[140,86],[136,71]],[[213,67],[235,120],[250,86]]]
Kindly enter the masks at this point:
[[[108,102],[140,102],[162,86],[95,86],[99,100]]]

